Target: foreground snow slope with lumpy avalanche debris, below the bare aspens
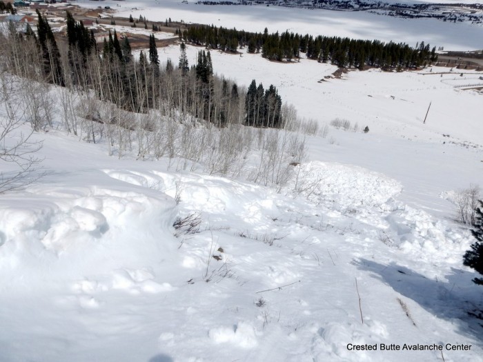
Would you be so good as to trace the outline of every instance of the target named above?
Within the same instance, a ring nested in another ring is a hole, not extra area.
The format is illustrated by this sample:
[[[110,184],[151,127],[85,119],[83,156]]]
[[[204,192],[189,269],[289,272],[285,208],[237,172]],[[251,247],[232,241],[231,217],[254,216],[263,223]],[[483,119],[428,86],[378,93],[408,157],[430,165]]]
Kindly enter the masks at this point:
[[[461,265],[469,232],[400,201],[395,179],[312,161],[306,182],[322,181],[294,198],[290,185],[277,194],[41,137],[52,173],[0,199],[2,361],[441,356],[348,343],[463,343],[471,351],[445,360],[482,361],[466,316],[482,303]],[[172,228],[193,213],[199,232]]]

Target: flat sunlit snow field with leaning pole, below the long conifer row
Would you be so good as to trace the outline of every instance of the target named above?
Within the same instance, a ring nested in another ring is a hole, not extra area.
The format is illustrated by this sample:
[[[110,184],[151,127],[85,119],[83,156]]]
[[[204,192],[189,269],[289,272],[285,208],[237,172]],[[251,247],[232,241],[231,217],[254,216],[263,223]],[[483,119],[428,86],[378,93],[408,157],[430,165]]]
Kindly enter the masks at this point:
[[[201,47],[187,46],[190,65],[196,63]],[[459,86],[483,86],[483,71],[431,67],[420,72],[388,73],[381,70],[351,71],[342,79],[325,79],[336,66],[310,59],[299,62],[270,62],[260,54],[210,52],[219,75],[248,88],[255,79],[265,87],[273,84],[284,101],[293,103],[297,114],[328,124],[335,118],[348,119],[377,134],[406,139],[470,141],[483,145],[480,132],[482,96]],[[179,46],[159,48],[161,62],[176,63]],[[428,105],[431,109],[422,125]],[[464,123],[455,127],[455,122]],[[443,134],[450,134],[446,139]]]

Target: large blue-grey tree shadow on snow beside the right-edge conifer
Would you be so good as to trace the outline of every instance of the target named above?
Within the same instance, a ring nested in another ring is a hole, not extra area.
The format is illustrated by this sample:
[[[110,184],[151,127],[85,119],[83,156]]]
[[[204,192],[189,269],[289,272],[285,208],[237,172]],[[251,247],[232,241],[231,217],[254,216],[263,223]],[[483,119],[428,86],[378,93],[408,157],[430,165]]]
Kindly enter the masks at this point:
[[[373,273],[375,278],[438,318],[457,323],[461,334],[482,341],[483,288],[471,282],[475,274],[452,268],[451,274],[444,276],[446,281],[442,281],[437,276],[428,279],[397,263],[384,265],[359,259],[355,265],[360,270]],[[483,345],[483,342],[480,344]]]

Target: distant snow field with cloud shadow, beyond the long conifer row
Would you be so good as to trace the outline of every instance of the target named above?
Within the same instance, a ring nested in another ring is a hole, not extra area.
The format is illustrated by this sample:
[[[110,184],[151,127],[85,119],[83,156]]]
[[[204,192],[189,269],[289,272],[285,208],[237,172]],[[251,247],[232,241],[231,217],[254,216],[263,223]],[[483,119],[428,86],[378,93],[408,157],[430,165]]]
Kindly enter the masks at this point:
[[[380,39],[404,42],[415,46],[424,41],[446,50],[477,50],[483,48],[481,25],[451,23],[435,19],[400,19],[368,12],[293,9],[279,6],[204,6],[195,1],[76,1],[79,6],[95,8],[110,6],[120,16],[139,17],[150,21],[183,20],[206,23],[251,32],[298,32],[300,34]]]

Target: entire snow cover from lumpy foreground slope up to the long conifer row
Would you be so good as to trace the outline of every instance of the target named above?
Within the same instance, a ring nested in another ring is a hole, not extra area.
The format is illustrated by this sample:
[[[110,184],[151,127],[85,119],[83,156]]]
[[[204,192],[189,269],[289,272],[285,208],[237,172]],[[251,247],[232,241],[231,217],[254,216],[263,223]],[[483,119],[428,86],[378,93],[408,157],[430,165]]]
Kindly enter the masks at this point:
[[[159,55],[176,63],[179,48]],[[333,66],[211,56],[215,72],[273,83],[321,127],[339,117],[359,130],[307,137],[297,193],[35,134],[46,176],[0,194],[0,361],[483,361],[469,316],[482,288],[462,265],[473,241],[451,202],[483,186],[483,96],[457,87],[480,75],[319,83]],[[189,215],[197,232],[173,227]]]

